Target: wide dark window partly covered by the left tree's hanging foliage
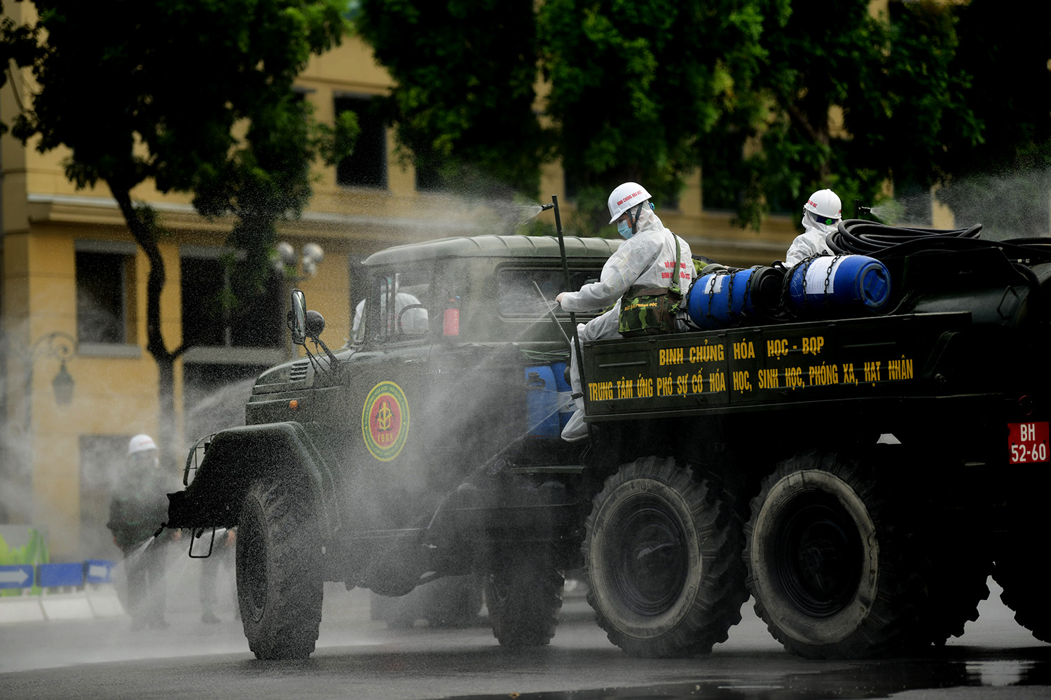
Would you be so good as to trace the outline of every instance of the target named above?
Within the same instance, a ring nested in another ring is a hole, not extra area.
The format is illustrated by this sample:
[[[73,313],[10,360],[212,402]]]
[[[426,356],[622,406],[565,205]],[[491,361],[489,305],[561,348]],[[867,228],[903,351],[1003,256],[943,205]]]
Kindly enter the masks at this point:
[[[284,342],[282,280],[267,279],[262,291],[239,289],[223,259],[229,251],[184,247],[180,279],[183,343],[187,346],[279,347]]]

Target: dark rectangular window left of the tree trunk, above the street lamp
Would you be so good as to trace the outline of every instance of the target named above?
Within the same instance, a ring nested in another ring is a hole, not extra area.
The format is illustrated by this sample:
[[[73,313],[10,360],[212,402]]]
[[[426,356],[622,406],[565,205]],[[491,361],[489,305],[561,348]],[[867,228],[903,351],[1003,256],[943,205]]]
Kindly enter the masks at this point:
[[[77,336],[81,343],[135,338],[135,246],[76,241]]]

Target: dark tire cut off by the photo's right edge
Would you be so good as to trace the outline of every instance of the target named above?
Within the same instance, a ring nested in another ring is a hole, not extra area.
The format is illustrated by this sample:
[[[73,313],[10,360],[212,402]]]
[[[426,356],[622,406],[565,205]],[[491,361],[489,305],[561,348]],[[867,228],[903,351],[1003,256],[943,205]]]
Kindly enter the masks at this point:
[[[1040,531],[1046,531],[1046,525],[1025,534],[1012,532],[1010,542],[996,554],[992,576],[1004,589],[1000,599],[1014,611],[1015,621],[1040,641],[1051,642],[1051,603],[1047,581],[1038,572],[1043,557],[1034,551],[1036,540],[1031,539]]]

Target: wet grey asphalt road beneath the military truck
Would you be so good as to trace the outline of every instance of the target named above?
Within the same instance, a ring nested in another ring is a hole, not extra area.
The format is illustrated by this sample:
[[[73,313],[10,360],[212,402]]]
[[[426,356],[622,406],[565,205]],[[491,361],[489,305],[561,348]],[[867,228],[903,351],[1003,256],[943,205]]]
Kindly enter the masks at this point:
[[[369,619],[368,598],[326,588],[318,650],[298,662],[259,662],[232,604],[200,622],[191,596],[173,596],[171,627],[132,633],[126,618],[0,627],[0,698],[1051,698],[1051,644],[1015,624],[1000,590],[964,637],[923,658],[806,661],[785,653],[743,609],[727,642],[695,659],[633,659],[569,597],[549,646],[507,650],[485,617],[458,630],[392,631]]]

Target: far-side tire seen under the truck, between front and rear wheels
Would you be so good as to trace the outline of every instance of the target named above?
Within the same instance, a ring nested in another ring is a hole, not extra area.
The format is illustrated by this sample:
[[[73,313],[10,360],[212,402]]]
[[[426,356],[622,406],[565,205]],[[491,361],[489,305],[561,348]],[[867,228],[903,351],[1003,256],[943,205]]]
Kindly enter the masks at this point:
[[[555,636],[565,578],[543,553],[497,566],[486,581],[493,636],[503,646],[541,646]]]

